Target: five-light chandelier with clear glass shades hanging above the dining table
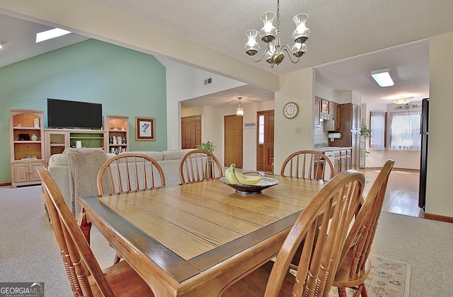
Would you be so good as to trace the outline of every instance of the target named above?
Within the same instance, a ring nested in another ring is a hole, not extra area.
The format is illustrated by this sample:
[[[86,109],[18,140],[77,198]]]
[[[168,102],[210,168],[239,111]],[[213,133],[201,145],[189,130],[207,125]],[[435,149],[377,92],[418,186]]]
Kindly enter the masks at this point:
[[[275,17],[277,17],[277,28],[273,25]],[[265,59],[265,61],[270,64],[271,68],[273,68],[275,64],[278,65],[283,61],[285,52],[288,54],[292,63],[295,64],[299,62],[299,58],[306,52],[305,42],[310,35],[309,28],[305,27],[305,22],[308,18],[309,15],[306,13],[299,13],[292,18],[292,21],[296,25],[296,29],[292,32],[294,45],[292,47],[289,47],[289,45],[282,45],[280,42],[280,1],[277,0],[277,14],[273,11],[268,11],[261,15],[261,21],[263,21],[264,25],[260,32],[258,32],[258,30],[248,30],[246,32],[246,36],[248,37],[248,42],[245,46],[246,54],[251,56],[253,62],[260,62]],[[253,56],[260,50],[260,45],[256,42],[258,33],[261,40],[268,44],[268,48],[260,59],[255,60],[253,59]],[[293,60],[289,52],[297,59]]]

